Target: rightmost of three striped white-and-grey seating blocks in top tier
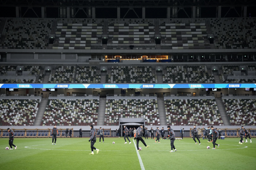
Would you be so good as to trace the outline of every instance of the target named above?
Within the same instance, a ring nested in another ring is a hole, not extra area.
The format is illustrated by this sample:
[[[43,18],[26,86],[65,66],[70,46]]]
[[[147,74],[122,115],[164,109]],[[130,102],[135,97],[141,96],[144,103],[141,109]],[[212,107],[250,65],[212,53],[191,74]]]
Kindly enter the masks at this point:
[[[207,29],[205,21],[202,21],[159,19],[160,34],[164,38],[163,43],[171,44],[172,49],[210,48],[210,44],[204,43]]]

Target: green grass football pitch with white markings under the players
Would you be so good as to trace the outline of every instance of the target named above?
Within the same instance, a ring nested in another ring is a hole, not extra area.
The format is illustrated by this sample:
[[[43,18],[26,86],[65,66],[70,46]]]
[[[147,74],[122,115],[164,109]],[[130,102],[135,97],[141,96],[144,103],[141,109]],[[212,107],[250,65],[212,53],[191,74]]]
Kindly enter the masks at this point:
[[[52,138],[15,138],[15,150],[5,150],[9,147],[8,138],[0,139],[0,169],[90,169],[90,170],[150,170],[150,169],[250,169],[256,168],[256,138],[253,143],[238,144],[240,138],[225,138],[217,140],[219,148],[213,150],[212,143],[201,138],[201,144],[195,144],[192,138],[175,140],[177,151],[171,150],[170,140],[146,139],[150,147],[141,142],[138,151],[136,140],[105,138],[105,143],[97,142],[95,147],[99,153],[91,153],[89,138],[57,138],[52,145]],[[144,139],[144,138],[143,138]],[[245,139],[244,139],[245,140]],[[115,144],[112,144],[115,142]],[[210,149],[207,149],[210,146]],[[14,148],[14,147],[13,147]],[[141,159],[139,159],[139,157]]]

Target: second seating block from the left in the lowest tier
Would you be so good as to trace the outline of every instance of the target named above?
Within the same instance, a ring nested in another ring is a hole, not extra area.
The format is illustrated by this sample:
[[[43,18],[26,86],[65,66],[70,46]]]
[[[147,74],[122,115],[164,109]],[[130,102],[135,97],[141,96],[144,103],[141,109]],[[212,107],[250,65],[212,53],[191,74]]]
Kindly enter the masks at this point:
[[[41,126],[97,125],[97,99],[49,99]]]

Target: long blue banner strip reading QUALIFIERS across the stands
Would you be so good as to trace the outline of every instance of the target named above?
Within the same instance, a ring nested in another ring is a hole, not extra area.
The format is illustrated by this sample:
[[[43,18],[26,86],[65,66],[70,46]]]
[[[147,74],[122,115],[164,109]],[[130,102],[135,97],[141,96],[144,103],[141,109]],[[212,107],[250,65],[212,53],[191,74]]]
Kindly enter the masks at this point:
[[[256,88],[256,84],[0,84],[0,88],[74,88],[74,89],[162,89],[162,88]]]

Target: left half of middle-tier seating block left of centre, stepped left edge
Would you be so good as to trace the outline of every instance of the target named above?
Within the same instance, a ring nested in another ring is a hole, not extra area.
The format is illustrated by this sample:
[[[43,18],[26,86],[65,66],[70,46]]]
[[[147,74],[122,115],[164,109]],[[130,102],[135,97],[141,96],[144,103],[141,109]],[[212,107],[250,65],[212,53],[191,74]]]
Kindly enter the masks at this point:
[[[50,74],[49,83],[74,83],[76,66],[56,67],[55,74]]]

